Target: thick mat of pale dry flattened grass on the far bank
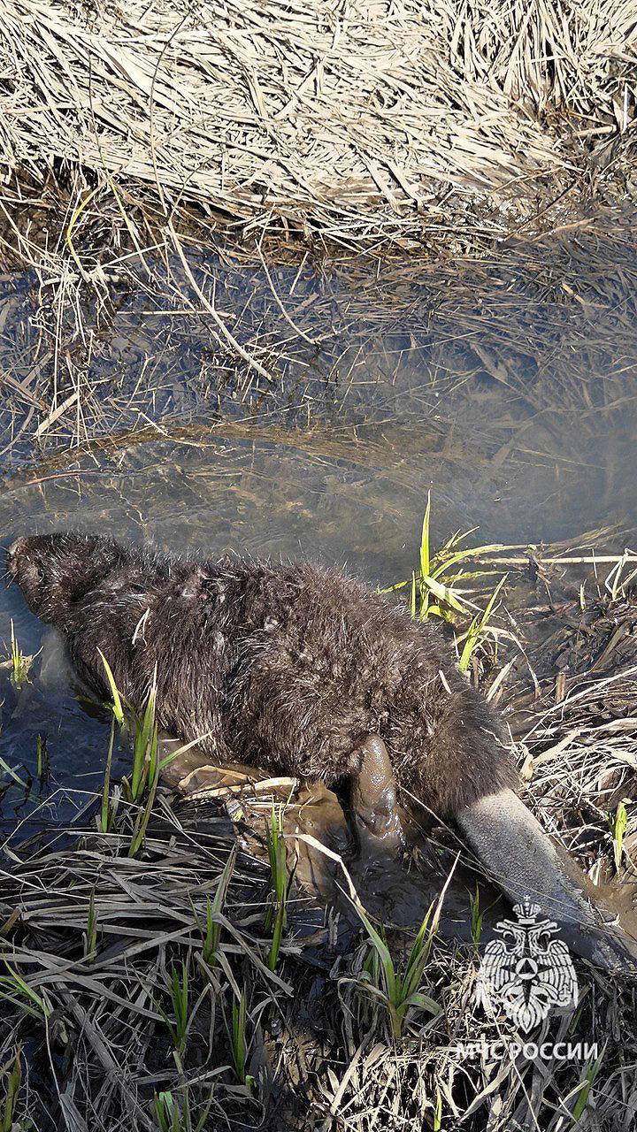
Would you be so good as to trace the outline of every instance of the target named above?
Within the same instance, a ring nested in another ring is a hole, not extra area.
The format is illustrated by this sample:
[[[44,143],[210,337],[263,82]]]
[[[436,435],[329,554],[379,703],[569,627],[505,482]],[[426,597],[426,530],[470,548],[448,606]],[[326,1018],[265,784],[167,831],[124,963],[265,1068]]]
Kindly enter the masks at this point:
[[[244,233],[470,242],[535,223],[635,121],[630,0],[8,0],[0,49],[6,175],[94,174],[70,248],[139,182]]]

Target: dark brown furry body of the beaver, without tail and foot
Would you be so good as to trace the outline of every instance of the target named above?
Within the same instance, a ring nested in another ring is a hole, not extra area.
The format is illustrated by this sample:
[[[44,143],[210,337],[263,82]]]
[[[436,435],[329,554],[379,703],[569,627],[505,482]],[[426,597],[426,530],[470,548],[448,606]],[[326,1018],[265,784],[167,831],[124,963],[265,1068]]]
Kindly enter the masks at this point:
[[[373,732],[399,786],[440,816],[512,782],[499,718],[439,632],[340,573],[73,533],[19,539],[8,569],[90,686],[108,695],[99,650],[136,707],[156,670],[161,726],[206,736],[219,761],[331,784]]]

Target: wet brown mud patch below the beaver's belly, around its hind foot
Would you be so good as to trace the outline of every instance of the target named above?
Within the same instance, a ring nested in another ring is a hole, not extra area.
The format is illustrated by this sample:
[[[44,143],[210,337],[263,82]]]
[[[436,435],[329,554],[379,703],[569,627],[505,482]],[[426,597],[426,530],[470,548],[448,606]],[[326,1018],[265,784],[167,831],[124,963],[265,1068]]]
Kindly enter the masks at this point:
[[[165,735],[161,745],[165,754],[182,747]],[[472,941],[470,906],[476,884],[485,927],[506,909],[501,893],[481,876],[477,866],[457,861],[460,842],[453,833],[438,827],[439,835],[433,835],[433,825],[423,826],[404,807],[398,812],[405,852],[397,858],[379,842],[374,852],[373,839],[359,851],[347,800],[322,782],[273,780],[257,767],[239,763],[214,766],[196,747],[178,754],[163,778],[189,806],[214,801],[232,820],[239,843],[263,860],[267,859],[263,832],[274,805],[282,814],[288,867],[295,869],[297,887],[325,910],[338,910],[346,937],[360,925],[350,882],[366,911],[389,931],[419,927],[450,873],[440,927],[443,937]]]

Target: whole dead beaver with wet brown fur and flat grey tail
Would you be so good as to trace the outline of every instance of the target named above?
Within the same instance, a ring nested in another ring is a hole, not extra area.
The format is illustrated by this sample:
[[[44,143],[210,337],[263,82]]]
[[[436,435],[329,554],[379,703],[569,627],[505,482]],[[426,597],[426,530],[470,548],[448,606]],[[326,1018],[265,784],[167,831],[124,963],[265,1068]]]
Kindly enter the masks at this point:
[[[540,899],[570,945],[637,971],[637,942],[515,790],[502,720],[440,631],[311,563],[179,558],[94,534],[17,539],[7,569],[80,679],[216,762],[349,782],[363,840],[400,852],[397,788],[453,822],[515,902]]]

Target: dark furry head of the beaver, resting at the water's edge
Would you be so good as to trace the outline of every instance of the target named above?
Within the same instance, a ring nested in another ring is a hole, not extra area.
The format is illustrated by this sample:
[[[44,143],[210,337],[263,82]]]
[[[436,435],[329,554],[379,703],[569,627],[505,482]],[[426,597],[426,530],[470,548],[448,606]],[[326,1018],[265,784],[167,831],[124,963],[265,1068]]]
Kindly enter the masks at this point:
[[[7,551],[7,574],[43,621],[63,625],[71,606],[121,565],[126,550],[97,534],[32,534]]]

